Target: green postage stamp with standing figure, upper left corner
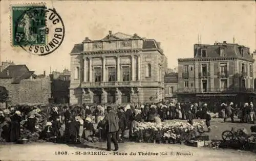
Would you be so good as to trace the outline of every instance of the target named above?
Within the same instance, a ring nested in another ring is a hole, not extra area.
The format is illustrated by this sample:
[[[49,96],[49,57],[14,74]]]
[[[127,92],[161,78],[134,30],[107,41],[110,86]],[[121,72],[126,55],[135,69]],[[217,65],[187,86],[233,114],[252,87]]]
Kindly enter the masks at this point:
[[[47,43],[44,4],[14,5],[10,9],[13,46],[45,45]]]

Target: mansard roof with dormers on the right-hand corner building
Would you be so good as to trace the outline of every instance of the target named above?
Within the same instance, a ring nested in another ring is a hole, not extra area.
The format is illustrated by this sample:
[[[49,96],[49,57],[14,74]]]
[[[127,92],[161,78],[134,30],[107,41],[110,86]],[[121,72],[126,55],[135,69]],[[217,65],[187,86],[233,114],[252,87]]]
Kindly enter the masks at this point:
[[[251,59],[253,58],[250,55],[248,47],[239,45],[239,44],[230,44],[230,43],[215,43],[214,45],[208,44],[195,44],[194,45],[194,57],[202,58],[201,50],[206,49],[206,58],[216,58],[220,56],[220,50],[224,48],[226,50],[225,57],[239,57]],[[244,49],[244,56],[242,57],[242,50]]]

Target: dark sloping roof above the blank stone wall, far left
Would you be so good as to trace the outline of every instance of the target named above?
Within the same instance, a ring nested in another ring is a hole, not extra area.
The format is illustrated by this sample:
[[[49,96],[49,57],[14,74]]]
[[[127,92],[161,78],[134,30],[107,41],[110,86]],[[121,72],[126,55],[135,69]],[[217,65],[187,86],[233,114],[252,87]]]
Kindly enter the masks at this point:
[[[13,78],[12,83],[20,83],[33,75],[34,71],[29,71],[26,65],[10,65],[0,73],[0,78]]]

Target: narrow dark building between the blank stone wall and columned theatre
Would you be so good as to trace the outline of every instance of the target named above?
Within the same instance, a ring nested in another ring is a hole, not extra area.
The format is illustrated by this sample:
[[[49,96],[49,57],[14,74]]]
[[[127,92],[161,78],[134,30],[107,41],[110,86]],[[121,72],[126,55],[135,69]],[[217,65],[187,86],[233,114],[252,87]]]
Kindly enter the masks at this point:
[[[52,103],[69,103],[70,71],[64,69],[63,72],[53,71],[50,74],[51,99]]]

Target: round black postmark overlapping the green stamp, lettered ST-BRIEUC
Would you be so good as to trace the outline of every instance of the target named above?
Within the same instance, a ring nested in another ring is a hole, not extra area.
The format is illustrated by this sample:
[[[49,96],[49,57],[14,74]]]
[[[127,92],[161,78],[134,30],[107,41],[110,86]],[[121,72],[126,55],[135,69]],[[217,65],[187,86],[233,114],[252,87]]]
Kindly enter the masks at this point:
[[[55,9],[31,7],[15,22],[15,43],[33,55],[52,53],[61,45],[64,37],[65,26]]]

